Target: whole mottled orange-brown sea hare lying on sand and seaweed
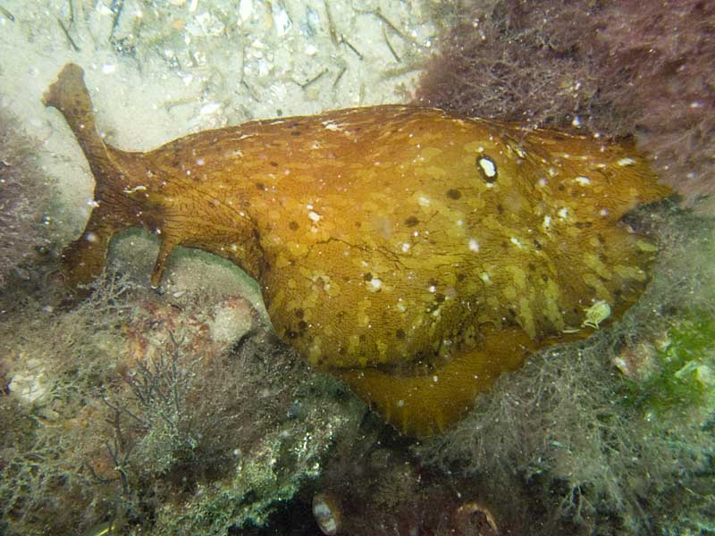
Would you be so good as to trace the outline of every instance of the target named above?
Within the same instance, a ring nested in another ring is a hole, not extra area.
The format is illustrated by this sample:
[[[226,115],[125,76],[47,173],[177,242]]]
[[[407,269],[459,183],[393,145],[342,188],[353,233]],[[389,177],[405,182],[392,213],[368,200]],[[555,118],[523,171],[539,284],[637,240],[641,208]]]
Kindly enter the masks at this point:
[[[175,246],[221,255],[259,282],[283,341],[416,436],[593,331],[593,306],[633,304],[655,247],[621,218],[669,194],[632,147],[431,108],[250,121],[130,153],[98,135],[77,65],[45,103],[97,182],[63,252],[71,283],[129,227],[161,239],[154,286]]]

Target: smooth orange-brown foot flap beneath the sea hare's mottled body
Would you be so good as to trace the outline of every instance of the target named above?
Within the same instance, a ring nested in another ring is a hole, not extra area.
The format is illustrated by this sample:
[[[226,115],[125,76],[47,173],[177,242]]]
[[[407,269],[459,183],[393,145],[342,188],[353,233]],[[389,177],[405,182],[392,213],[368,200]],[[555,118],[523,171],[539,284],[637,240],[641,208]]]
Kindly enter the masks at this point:
[[[515,328],[485,334],[477,348],[426,374],[400,376],[378,368],[333,372],[388,423],[409,436],[424,438],[456,423],[479,392],[491,388],[501,373],[516,370],[536,346]]]

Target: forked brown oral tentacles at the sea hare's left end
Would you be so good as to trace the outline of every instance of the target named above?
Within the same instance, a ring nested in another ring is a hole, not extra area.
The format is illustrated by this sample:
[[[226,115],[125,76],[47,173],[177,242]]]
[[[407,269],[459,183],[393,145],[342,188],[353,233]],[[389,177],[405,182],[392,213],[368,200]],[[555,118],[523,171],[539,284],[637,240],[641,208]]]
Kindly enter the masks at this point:
[[[97,132],[92,101],[84,84],[84,71],[68,63],[57,81],[47,89],[46,106],[63,114],[87,157],[95,177],[92,213],[80,239],[63,251],[62,268],[72,286],[94,279],[105,266],[109,240],[118,230],[136,224],[136,207],[126,195],[132,154],[105,144]]]

